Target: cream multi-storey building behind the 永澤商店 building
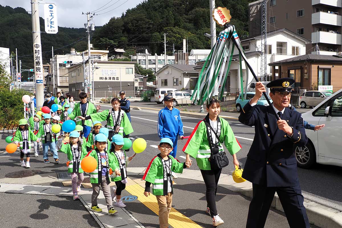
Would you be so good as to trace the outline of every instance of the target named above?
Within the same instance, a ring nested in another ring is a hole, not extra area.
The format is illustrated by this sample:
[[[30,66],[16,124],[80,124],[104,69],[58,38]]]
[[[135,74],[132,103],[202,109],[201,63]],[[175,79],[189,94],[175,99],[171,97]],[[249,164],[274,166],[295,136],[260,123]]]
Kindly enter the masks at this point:
[[[90,57],[94,61],[108,61],[109,51],[105,50],[90,50]],[[84,51],[84,60],[88,60],[88,50]],[[54,65],[52,64],[54,62]],[[55,75],[55,90],[53,91],[53,81],[50,82],[49,91],[61,92],[65,94],[69,92],[69,77],[67,67],[73,66],[78,63],[82,63],[82,52],[76,52],[75,49],[71,48],[70,54],[55,55],[53,60],[50,59],[50,72]],[[54,70],[54,71],[53,71]],[[86,69],[88,72],[88,68]]]

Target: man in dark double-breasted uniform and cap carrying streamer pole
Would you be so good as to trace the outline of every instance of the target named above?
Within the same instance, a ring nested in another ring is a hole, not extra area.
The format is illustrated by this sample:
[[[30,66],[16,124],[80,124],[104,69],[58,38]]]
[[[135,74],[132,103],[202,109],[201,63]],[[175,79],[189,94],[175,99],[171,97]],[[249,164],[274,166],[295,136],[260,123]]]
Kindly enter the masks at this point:
[[[246,228],[262,228],[275,192],[291,228],[310,228],[303,205],[304,197],[297,173],[293,145],[305,146],[307,137],[299,112],[288,107],[292,78],[280,78],[267,84],[271,106],[256,105],[262,92],[261,82],[255,85],[254,97],[245,105],[239,121],[255,126],[254,140],[247,154],[242,177],[253,184]],[[274,110],[280,119],[274,115]]]

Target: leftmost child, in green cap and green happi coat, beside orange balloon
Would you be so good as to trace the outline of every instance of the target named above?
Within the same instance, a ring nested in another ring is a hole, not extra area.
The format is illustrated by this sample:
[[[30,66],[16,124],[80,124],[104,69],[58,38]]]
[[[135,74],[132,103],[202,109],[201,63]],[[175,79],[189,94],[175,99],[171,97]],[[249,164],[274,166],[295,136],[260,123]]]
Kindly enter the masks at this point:
[[[19,127],[13,137],[13,143],[19,146],[20,165],[26,168],[30,167],[31,139],[39,143],[38,137],[28,128],[27,120],[19,120]],[[26,155],[26,165],[24,162],[24,155]]]

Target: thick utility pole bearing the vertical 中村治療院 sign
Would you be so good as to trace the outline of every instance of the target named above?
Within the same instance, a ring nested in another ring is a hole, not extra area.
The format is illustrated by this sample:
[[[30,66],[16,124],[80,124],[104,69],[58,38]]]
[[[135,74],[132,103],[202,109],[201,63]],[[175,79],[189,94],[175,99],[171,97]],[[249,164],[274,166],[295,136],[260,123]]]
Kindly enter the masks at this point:
[[[37,48],[36,50],[40,50],[38,58],[35,56],[35,51],[33,52],[33,58],[35,63],[35,83],[36,83],[36,104],[37,110],[43,106],[44,103],[44,84],[43,80],[41,80],[43,63],[42,63],[42,55],[41,55],[41,41],[40,41],[40,24],[39,24],[39,7],[38,0],[30,0],[31,2],[31,15],[32,15],[32,39],[33,39],[33,48]],[[37,54],[37,53],[36,53]],[[37,54],[38,55],[38,54]],[[38,60],[39,59],[39,60]],[[38,65],[38,66],[37,66]],[[39,78],[39,80],[37,80]]]

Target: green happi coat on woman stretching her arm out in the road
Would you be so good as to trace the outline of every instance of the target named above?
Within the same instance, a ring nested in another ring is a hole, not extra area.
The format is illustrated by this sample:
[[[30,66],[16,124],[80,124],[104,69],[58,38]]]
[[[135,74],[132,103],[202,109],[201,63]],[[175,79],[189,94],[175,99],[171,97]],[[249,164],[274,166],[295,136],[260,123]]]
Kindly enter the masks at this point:
[[[103,110],[102,112],[99,112],[99,113],[90,114],[90,117],[91,117],[92,121],[96,121],[96,120],[105,121],[105,120],[107,120],[109,112],[111,112],[111,111],[112,111],[112,109],[106,109],[106,110]],[[120,116],[122,119],[121,119],[121,123],[120,123],[119,135],[123,136],[123,133],[125,133],[125,135],[131,134],[133,132],[132,125],[131,125],[131,122],[129,122],[129,119],[123,110],[120,111]],[[110,114],[109,119],[108,119],[107,128],[109,131],[115,130],[113,117],[111,114]]]

